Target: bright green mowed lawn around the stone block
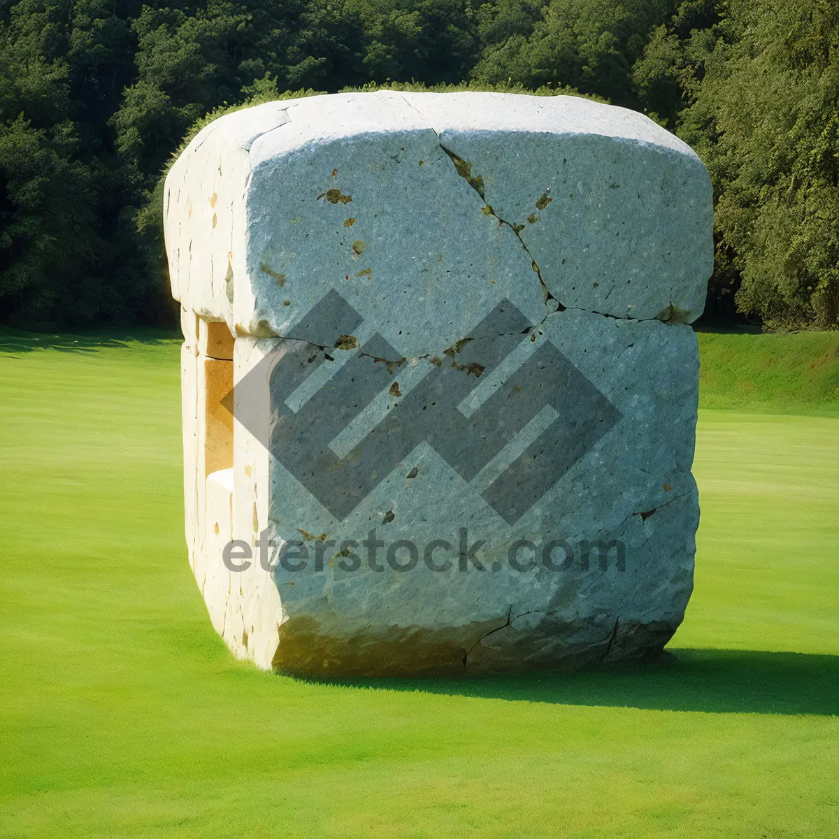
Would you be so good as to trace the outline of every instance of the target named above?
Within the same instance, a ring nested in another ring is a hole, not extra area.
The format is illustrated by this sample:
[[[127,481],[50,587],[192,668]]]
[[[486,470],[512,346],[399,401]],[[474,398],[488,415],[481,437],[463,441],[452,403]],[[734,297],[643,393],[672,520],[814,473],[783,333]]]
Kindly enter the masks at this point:
[[[701,411],[680,664],[320,685],[211,629],[179,378],[171,339],[0,335],[0,835],[839,836],[824,399]]]

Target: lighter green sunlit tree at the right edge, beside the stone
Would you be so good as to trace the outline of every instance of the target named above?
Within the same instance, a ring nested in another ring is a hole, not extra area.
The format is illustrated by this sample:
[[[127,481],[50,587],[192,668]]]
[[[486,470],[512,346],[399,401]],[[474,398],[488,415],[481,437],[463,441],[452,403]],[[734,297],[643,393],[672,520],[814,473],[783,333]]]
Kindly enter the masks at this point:
[[[839,6],[732,0],[711,34],[679,133],[714,180],[717,274],[770,328],[835,328]]]

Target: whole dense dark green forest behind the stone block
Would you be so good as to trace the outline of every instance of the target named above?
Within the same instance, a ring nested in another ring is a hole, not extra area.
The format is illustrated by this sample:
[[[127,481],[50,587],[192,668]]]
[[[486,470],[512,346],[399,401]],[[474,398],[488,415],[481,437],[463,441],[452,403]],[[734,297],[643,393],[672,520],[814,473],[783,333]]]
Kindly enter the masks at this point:
[[[414,82],[635,108],[711,171],[711,316],[839,326],[836,0],[0,0],[0,322],[171,322],[162,173],[211,112]]]

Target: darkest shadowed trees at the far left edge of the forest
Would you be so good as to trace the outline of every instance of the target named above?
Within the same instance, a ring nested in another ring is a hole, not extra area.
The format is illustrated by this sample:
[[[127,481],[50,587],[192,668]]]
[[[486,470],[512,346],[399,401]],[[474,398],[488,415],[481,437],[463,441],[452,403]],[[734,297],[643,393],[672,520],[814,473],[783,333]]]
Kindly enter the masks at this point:
[[[112,8],[112,6],[111,6]],[[133,74],[128,25],[102,0],[23,0],[0,29],[0,313],[143,315],[132,173],[107,117]]]

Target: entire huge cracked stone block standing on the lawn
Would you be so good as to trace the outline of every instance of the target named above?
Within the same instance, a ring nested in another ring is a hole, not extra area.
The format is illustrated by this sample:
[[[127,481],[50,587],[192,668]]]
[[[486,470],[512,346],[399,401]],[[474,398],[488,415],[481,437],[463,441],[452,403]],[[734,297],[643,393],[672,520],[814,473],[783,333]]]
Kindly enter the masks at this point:
[[[237,655],[662,649],[699,516],[685,324],[712,218],[688,147],[571,97],[322,96],[211,123],[164,210],[190,563]]]

